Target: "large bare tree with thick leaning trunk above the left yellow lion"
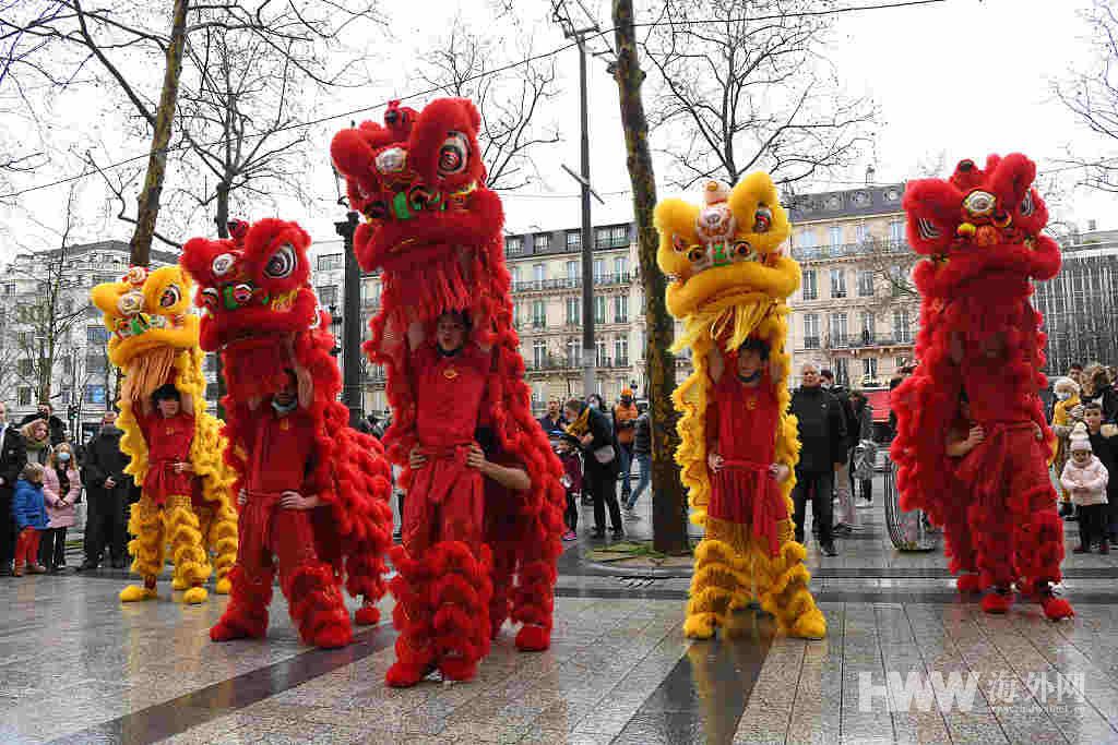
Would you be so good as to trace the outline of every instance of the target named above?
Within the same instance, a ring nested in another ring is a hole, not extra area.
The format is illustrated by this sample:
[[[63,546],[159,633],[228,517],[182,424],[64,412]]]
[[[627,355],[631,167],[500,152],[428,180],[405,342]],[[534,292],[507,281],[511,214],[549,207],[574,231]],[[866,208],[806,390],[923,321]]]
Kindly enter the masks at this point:
[[[183,61],[208,61],[205,55],[186,55],[188,48],[197,48],[195,39],[221,31],[244,35],[272,51],[315,48],[337,41],[357,19],[377,20],[375,10],[376,0],[174,0],[168,29],[164,11],[141,0],[117,0],[97,8],[86,8],[82,0],[7,0],[0,4],[0,35],[20,44],[3,51],[0,70],[11,74],[20,69],[50,85],[65,86],[78,71],[92,69],[96,82],[115,88],[138,115],[141,127],[150,131],[151,150],[132,237],[133,262],[146,265],[172,149]],[[201,47],[206,47],[205,41]],[[287,59],[301,74],[329,83],[334,74],[305,64],[313,57],[301,52]],[[162,74],[158,94],[153,70]],[[201,79],[207,73],[199,67],[197,77]]]

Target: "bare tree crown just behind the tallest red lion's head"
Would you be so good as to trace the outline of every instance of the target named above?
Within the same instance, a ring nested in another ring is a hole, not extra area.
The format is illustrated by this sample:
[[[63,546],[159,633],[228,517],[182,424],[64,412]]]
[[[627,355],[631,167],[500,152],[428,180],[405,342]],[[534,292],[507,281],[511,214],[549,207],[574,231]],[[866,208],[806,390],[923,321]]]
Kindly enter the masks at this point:
[[[511,3],[506,10],[512,12]],[[449,95],[473,99],[482,117],[479,141],[490,189],[519,189],[532,182],[532,152],[560,140],[555,122],[540,122],[541,109],[559,93],[555,63],[534,61],[490,74],[512,59],[523,59],[531,40],[509,44],[509,36],[519,38],[519,23],[504,35],[493,31],[495,26],[487,28],[477,32],[456,18],[420,56],[424,66],[417,74]],[[505,49],[519,51],[509,56]]]

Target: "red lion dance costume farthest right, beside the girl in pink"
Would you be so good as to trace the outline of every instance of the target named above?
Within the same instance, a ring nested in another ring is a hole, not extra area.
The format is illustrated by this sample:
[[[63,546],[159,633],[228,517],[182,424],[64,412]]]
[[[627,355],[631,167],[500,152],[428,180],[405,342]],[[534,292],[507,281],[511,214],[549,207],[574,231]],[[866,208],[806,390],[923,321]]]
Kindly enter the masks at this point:
[[[1032,280],[1059,271],[1060,251],[1041,235],[1048,210],[1032,188],[1035,175],[1033,162],[1014,153],[991,155],[985,170],[963,161],[947,181],[908,184],[909,240],[928,258],[913,273],[920,366],[893,393],[891,452],[901,506],[944,526],[959,590],[989,590],[983,609],[1004,613],[1017,582],[1055,620],[1072,610],[1052,593],[1063,525],[1038,395],[1046,384],[1042,317],[1029,298]],[[948,432],[972,427],[985,439],[948,457]]]

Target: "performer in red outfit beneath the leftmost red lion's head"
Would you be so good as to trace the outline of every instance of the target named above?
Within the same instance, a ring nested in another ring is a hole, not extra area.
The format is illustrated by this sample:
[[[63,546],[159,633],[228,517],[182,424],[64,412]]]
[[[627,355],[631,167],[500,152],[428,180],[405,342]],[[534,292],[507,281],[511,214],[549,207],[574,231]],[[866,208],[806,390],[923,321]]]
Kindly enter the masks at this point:
[[[214,641],[263,637],[268,627],[272,581],[280,588],[303,641],[316,647],[343,647],[352,639],[349,612],[333,582],[330,565],[319,558],[312,513],[322,506],[309,478],[313,470],[314,423],[306,410],[314,383],[305,369],[287,370],[287,381],[267,402],[250,402],[255,412],[246,428],[248,474],[238,495],[239,547],[229,608],[210,630]],[[297,394],[296,394],[297,393]],[[274,555],[274,558],[273,558]],[[318,612],[301,608],[316,605]]]

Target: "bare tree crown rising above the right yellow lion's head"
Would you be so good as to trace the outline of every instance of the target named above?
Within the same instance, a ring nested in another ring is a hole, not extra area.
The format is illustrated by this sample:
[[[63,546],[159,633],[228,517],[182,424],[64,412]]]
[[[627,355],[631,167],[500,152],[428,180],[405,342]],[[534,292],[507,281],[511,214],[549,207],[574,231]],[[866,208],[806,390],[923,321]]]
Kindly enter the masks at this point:
[[[651,125],[681,188],[766,170],[778,184],[818,179],[869,143],[871,101],[843,95],[824,57],[825,0],[664,0],[645,40],[659,74]],[[752,20],[758,19],[758,20]]]

